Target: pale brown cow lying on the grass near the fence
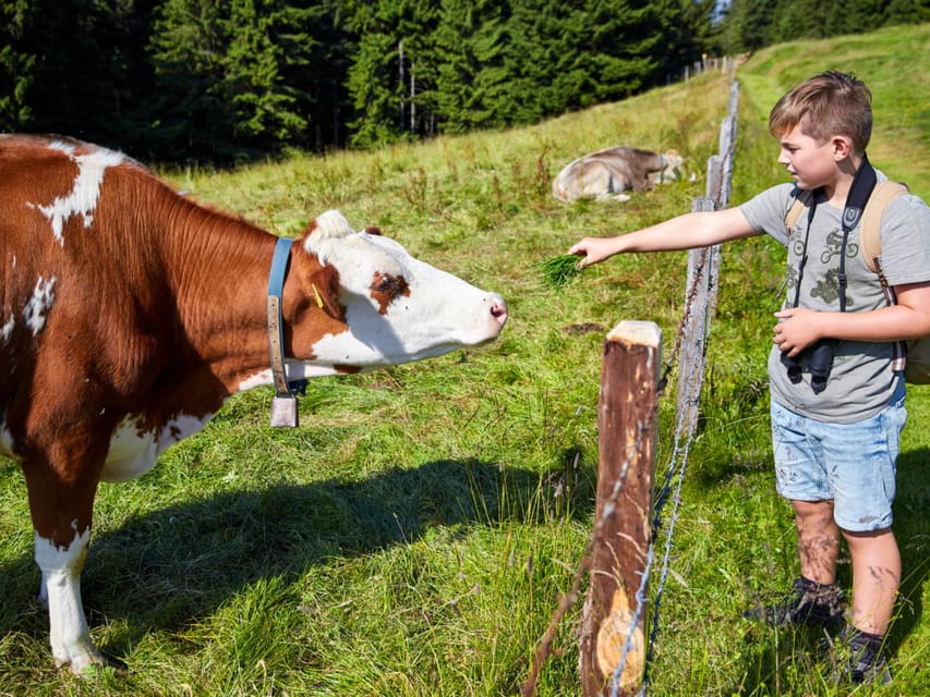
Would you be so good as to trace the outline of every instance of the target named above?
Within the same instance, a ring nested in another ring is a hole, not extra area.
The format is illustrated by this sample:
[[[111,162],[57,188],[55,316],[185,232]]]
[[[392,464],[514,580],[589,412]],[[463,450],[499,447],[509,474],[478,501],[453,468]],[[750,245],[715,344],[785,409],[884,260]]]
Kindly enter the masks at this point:
[[[629,200],[626,191],[641,193],[681,175],[684,159],[675,150],[664,154],[614,147],[569,162],[553,180],[552,195],[563,203],[579,198]]]

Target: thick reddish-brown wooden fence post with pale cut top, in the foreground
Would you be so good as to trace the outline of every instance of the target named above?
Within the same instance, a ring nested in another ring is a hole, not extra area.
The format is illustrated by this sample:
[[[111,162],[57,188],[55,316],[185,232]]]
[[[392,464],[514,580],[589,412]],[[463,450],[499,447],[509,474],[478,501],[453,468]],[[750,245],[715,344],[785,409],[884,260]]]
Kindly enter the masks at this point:
[[[604,342],[597,503],[579,657],[584,697],[612,688],[618,668],[617,694],[630,695],[642,683],[645,609],[638,596],[644,603],[661,351],[662,331],[653,322],[621,321]]]

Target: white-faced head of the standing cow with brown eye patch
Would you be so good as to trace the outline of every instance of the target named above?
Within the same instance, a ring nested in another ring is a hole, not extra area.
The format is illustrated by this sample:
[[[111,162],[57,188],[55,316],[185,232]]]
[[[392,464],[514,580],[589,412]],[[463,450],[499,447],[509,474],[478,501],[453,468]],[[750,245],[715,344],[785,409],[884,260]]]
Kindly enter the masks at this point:
[[[377,231],[355,232],[338,211],[319,216],[301,246],[323,265],[302,279],[302,292],[337,320],[314,338],[317,369],[369,370],[439,356],[493,341],[507,321],[496,293],[413,258]]]

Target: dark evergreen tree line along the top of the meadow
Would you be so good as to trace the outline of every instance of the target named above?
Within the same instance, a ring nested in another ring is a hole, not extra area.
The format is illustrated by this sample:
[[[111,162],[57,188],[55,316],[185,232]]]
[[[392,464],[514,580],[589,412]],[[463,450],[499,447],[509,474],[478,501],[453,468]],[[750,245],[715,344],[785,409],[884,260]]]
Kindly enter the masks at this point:
[[[0,0],[0,131],[161,161],[538,122],[928,0]]]

